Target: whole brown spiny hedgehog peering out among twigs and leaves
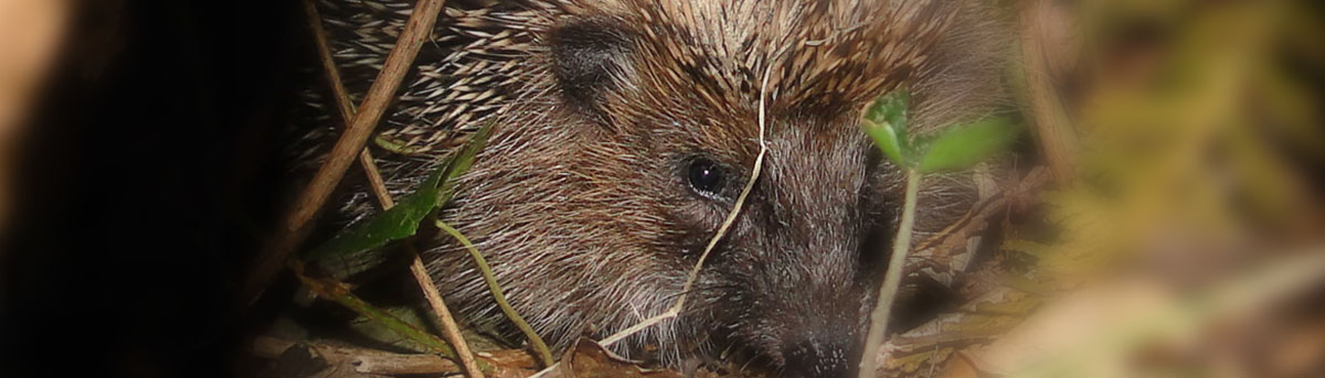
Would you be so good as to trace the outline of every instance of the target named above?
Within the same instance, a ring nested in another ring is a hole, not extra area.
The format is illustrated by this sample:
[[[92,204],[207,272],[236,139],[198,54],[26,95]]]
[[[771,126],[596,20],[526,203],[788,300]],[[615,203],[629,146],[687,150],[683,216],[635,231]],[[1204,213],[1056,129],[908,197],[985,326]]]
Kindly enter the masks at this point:
[[[362,95],[412,4],[317,5]],[[920,133],[994,110],[1007,45],[994,15],[974,0],[452,0],[372,148],[403,196],[494,124],[439,217],[564,349],[673,304],[766,137],[763,173],[684,312],[615,352],[665,366],[739,354],[775,375],[844,377],[902,196],[860,108],[905,87]],[[337,133],[326,98],[306,98],[318,116],[292,148],[306,165]],[[921,238],[970,208],[961,177],[925,180]],[[376,211],[364,186],[346,192],[347,222]],[[458,245],[437,237],[421,256],[465,320],[513,330]]]

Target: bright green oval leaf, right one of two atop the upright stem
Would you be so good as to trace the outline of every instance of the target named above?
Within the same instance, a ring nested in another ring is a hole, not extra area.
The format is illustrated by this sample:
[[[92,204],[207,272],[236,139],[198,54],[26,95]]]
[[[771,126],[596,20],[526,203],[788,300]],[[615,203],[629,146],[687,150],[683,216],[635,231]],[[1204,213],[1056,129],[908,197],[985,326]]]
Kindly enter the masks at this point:
[[[1016,139],[1016,128],[1006,118],[990,118],[967,127],[949,128],[929,143],[920,172],[966,169],[1007,148]]]

